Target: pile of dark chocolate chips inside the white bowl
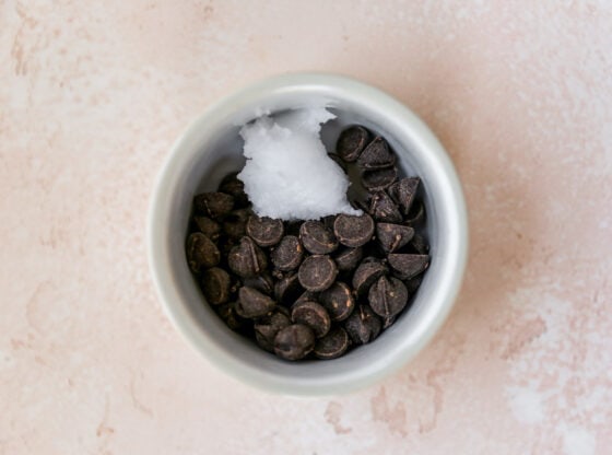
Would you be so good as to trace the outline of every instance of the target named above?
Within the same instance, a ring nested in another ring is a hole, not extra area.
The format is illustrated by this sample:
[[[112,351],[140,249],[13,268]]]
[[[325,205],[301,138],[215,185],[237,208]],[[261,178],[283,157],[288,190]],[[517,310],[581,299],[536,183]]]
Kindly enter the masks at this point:
[[[286,360],[336,359],[368,343],[409,305],[429,264],[419,177],[361,126],[332,155],[356,166],[362,215],[282,221],[254,213],[237,174],[193,198],[187,260],[227,326]]]

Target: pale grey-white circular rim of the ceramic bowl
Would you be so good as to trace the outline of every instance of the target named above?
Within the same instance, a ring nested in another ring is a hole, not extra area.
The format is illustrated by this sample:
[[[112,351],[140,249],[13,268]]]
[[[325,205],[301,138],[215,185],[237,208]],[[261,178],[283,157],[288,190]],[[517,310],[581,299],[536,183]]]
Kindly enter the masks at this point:
[[[411,130],[416,131],[421,142],[426,144],[427,153],[432,153],[437,161],[437,166],[439,166],[440,174],[444,174],[448,187],[446,196],[452,199],[451,207],[455,210],[452,220],[456,221],[456,230],[451,233],[452,265],[449,267],[454,272],[454,277],[447,280],[446,299],[437,313],[431,316],[426,330],[423,330],[419,341],[412,345],[410,351],[401,352],[396,355],[396,362],[389,363],[386,368],[370,371],[367,374],[353,375],[353,377],[349,377],[349,380],[346,380],[346,375],[344,375],[337,381],[328,381],[327,383],[321,383],[320,381],[311,383],[308,381],[301,381],[296,384],[287,384],[278,377],[275,378],[272,372],[268,372],[268,374],[254,374],[254,371],[246,369],[244,364],[240,365],[237,359],[227,359],[223,352],[217,350],[203,349],[201,346],[201,336],[198,334],[198,331],[201,332],[203,330],[201,330],[198,324],[186,314],[181,305],[175,302],[174,298],[176,292],[173,292],[173,288],[176,287],[176,284],[170,278],[172,269],[168,264],[165,264],[166,261],[158,248],[164,233],[161,223],[157,221],[160,217],[163,215],[158,211],[160,200],[164,197],[165,182],[172,175],[172,168],[177,154],[180,153],[180,150],[188,142],[188,139],[205,124],[207,118],[210,118],[210,116],[216,112],[227,110],[228,106],[235,106],[235,109],[239,109],[242,105],[245,105],[246,101],[254,100],[254,97],[263,98],[266,94],[271,92],[303,85],[325,86],[327,90],[338,89],[343,93],[358,93],[361,97],[369,98],[373,103],[382,105],[385,109],[392,113],[395,117],[410,125],[409,128]],[[468,211],[459,177],[449,155],[426,124],[408,106],[382,90],[353,78],[331,73],[297,72],[266,78],[211,104],[189,124],[170,147],[155,180],[146,219],[146,250],[153,284],[165,314],[179,334],[187,339],[188,345],[202,357],[209,359],[211,363],[215,364],[220,370],[244,383],[268,392],[285,393],[290,395],[321,396],[343,394],[360,389],[398,371],[409,360],[421,352],[437,334],[457,300],[467,266],[468,243]]]

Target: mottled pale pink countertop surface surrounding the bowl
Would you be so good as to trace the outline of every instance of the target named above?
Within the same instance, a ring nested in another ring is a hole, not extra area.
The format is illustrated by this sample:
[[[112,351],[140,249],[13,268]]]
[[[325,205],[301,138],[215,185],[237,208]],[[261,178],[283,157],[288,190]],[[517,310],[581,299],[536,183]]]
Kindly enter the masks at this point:
[[[0,2],[0,454],[608,454],[612,4]],[[471,215],[434,342],[350,396],[236,383],[153,292],[149,197],[201,109],[350,74],[414,108]]]

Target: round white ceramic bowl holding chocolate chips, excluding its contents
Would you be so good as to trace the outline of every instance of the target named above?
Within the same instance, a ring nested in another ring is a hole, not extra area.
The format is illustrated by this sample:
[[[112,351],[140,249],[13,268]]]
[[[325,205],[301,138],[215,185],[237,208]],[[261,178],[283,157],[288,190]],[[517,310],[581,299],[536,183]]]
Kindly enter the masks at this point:
[[[338,115],[321,132],[328,150],[345,125],[362,124],[389,141],[407,175],[421,177],[432,259],[410,310],[374,342],[336,360],[291,363],[225,327],[196,285],[184,245],[193,195],[214,190],[226,173],[244,165],[240,125],[264,112],[310,105],[327,105]],[[412,359],[448,315],[461,285],[468,250],[461,186],[435,136],[388,94],[331,74],[274,77],[209,107],[172,148],[154,189],[148,223],[153,280],[178,330],[203,357],[238,380],[294,395],[353,390]]]

